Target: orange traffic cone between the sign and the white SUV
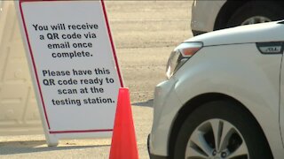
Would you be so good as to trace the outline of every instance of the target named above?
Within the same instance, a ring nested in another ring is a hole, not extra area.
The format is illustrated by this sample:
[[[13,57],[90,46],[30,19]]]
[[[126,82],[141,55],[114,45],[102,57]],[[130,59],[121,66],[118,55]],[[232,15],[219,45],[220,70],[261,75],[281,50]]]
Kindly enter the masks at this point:
[[[138,159],[128,88],[119,89],[109,159]]]

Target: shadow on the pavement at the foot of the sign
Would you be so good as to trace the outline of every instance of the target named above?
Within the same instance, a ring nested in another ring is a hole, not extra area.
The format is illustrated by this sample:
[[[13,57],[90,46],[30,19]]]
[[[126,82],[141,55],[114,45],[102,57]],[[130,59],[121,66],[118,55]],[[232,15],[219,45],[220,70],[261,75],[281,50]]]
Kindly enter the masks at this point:
[[[45,140],[0,142],[0,155],[27,154],[35,152],[59,151],[66,149],[109,147],[110,145],[76,146],[75,143],[59,144],[58,147],[48,147]]]

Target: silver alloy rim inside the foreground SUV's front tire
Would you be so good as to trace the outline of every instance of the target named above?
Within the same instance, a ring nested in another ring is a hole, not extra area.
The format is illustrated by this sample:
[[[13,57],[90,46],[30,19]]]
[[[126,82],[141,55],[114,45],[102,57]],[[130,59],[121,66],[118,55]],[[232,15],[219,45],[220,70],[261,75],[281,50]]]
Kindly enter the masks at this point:
[[[248,147],[240,131],[222,119],[209,119],[191,134],[185,159],[248,159]]]

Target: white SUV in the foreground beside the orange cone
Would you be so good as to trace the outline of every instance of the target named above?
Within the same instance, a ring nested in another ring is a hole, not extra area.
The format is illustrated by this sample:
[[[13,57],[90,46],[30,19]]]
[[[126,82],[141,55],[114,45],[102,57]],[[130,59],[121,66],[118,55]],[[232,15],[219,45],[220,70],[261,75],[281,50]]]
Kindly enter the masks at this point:
[[[155,87],[151,158],[284,156],[284,21],[201,34]]]

